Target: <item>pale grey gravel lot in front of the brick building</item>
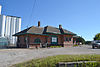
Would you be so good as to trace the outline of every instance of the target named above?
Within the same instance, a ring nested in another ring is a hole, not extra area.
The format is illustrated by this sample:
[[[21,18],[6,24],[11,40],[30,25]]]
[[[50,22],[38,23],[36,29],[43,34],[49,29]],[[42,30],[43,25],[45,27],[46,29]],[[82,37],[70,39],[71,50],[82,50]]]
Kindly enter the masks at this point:
[[[0,67],[9,67],[12,64],[61,54],[100,54],[100,49],[91,46],[68,48],[43,48],[43,49],[0,49]]]

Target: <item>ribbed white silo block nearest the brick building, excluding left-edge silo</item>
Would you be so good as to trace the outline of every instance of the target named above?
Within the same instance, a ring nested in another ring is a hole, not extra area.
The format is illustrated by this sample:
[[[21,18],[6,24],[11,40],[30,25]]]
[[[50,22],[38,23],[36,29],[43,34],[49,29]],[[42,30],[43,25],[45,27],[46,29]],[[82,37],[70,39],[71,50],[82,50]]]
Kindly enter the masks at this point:
[[[21,31],[21,18],[6,16],[5,36],[9,38],[11,44],[16,44],[17,38],[12,36]]]

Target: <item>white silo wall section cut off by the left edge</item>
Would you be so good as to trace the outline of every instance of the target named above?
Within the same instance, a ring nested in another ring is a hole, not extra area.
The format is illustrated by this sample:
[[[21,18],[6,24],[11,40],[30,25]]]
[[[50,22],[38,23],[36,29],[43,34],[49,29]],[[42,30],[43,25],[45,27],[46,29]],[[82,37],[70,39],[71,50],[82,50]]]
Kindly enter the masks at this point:
[[[0,15],[0,37],[5,36],[5,15]]]

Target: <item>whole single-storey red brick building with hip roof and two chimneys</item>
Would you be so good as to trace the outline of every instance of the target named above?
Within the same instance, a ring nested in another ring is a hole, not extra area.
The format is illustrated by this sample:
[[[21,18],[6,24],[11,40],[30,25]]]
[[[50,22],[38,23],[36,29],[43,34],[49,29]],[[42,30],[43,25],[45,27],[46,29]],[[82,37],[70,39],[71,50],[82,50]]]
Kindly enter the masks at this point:
[[[73,36],[76,34],[63,29],[61,25],[59,28],[52,26],[40,27],[31,26],[14,36],[18,37],[17,47],[43,47],[43,46],[69,46],[73,45]]]

